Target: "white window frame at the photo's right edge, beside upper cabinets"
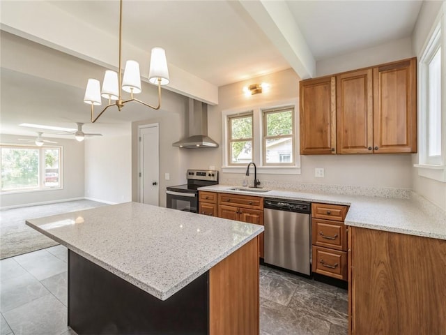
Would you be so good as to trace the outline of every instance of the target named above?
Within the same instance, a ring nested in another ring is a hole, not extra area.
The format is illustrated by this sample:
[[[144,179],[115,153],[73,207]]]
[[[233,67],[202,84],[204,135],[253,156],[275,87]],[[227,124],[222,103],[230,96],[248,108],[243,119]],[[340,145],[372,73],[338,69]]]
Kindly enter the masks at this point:
[[[446,182],[446,5],[433,22],[418,57],[419,153],[415,168],[422,177]],[[440,48],[440,156],[429,156],[429,63]]]

